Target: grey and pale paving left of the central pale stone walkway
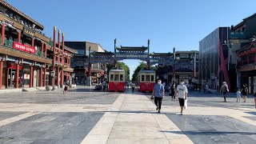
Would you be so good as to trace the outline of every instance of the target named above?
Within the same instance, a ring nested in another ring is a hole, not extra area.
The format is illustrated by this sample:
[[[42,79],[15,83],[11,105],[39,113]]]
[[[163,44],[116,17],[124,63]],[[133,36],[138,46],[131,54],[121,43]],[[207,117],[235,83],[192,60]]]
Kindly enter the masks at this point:
[[[80,143],[118,93],[90,88],[0,95],[0,143]]]

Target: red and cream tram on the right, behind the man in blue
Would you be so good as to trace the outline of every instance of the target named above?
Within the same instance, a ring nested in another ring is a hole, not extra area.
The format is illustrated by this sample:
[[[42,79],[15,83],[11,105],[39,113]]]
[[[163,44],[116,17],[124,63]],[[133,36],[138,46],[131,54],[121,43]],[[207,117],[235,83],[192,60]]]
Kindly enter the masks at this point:
[[[152,92],[155,84],[154,70],[141,70],[138,73],[139,90],[142,92]]]

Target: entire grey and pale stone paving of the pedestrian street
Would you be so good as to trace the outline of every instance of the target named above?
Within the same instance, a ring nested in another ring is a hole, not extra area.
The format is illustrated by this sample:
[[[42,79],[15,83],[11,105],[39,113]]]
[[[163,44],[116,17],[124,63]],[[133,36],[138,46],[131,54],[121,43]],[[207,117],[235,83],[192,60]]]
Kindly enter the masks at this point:
[[[220,94],[190,92],[180,115],[169,96],[158,114],[150,94],[131,90],[1,94],[0,143],[256,143],[253,97],[222,101]]]

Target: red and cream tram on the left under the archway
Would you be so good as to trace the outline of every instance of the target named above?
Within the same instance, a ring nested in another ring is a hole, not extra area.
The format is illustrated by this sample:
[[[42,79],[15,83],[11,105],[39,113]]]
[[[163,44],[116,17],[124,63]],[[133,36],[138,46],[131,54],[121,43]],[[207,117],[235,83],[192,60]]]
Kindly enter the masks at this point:
[[[125,70],[110,70],[109,91],[125,91]]]

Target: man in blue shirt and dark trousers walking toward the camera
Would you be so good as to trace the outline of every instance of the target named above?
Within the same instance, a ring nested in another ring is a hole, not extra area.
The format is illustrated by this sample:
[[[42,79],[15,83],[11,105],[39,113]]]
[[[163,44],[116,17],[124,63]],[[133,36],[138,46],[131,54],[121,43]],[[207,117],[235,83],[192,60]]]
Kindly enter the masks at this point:
[[[154,85],[152,97],[154,96],[154,103],[157,106],[158,113],[160,113],[162,106],[162,98],[165,98],[165,87],[162,85],[161,79]]]

